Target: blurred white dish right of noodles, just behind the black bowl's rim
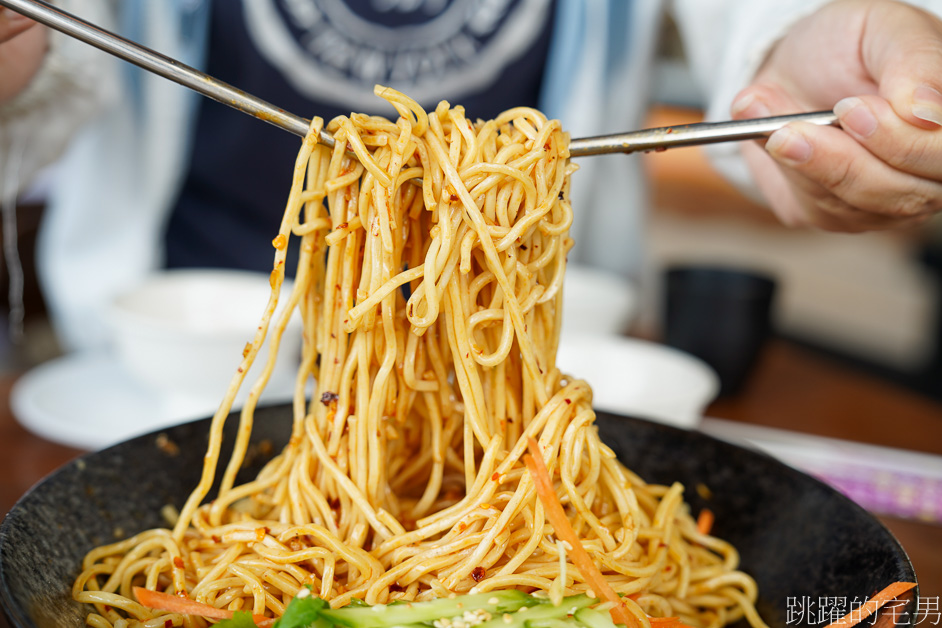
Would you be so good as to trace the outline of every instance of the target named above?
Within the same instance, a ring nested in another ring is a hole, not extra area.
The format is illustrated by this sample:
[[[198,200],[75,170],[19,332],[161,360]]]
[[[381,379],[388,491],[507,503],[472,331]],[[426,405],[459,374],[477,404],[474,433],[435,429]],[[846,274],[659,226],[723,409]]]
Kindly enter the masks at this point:
[[[622,336],[564,333],[556,364],[592,387],[599,410],[696,427],[719,391],[716,373],[682,351]]]

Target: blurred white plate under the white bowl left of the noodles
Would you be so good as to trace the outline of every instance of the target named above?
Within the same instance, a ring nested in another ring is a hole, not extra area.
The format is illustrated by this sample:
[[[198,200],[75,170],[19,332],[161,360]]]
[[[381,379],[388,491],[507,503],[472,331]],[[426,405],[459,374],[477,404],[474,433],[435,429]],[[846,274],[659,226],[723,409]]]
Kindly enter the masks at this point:
[[[247,386],[243,395],[245,390]],[[268,404],[290,398],[290,391],[266,390],[261,399]],[[114,356],[83,353],[32,369],[17,380],[10,395],[13,415],[23,427],[79,449],[101,449],[211,416],[220,401],[160,394],[133,379]]]

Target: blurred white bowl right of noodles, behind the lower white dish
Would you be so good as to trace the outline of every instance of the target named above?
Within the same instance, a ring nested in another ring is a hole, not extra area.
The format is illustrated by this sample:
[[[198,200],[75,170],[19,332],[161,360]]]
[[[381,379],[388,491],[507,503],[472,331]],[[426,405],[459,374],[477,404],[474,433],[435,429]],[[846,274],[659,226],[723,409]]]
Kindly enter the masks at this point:
[[[637,310],[635,286],[615,273],[570,264],[563,284],[564,334],[622,334]]]

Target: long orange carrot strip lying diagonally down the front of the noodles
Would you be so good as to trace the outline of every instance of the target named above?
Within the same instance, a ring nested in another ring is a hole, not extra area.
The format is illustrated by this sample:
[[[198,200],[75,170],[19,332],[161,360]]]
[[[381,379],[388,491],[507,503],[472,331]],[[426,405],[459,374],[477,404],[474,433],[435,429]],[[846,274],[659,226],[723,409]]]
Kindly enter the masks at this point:
[[[628,628],[640,628],[638,621],[628,612],[624,602],[622,602],[621,598],[618,597],[618,594],[615,593],[612,587],[609,586],[608,582],[605,580],[605,576],[602,575],[602,572],[599,571],[595,563],[592,562],[592,557],[589,556],[589,553],[582,547],[582,543],[579,542],[579,537],[576,536],[575,530],[573,530],[572,526],[569,524],[566,511],[563,510],[563,505],[559,503],[559,499],[556,497],[556,491],[553,489],[553,480],[550,478],[549,472],[546,470],[546,465],[543,463],[543,456],[540,453],[539,445],[537,445],[535,440],[530,438],[527,442],[527,447],[530,449],[530,453],[524,455],[523,460],[527,465],[527,469],[530,471],[530,476],[533,478],[533,484],[536,486],[536,494],[539,496],[540,501],[543,502],[543,508],[546,510],[546,518],[556,531],[556,536],[569,543],[571,548],[569,555],[572,557],[572,562],[576,564],[579,573],[586,579],[586,582],[592,587],[592,590],[595,591],[599,599],[612,603],[613,606],[610,611],[612,621],[616,624],[624,624],[628,626]]]

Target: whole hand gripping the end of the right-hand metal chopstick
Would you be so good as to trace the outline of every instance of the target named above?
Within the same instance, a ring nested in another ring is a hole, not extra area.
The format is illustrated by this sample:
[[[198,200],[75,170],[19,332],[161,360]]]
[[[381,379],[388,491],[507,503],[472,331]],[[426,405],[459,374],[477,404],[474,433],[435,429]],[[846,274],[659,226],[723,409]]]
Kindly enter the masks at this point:
[[[796,23],[732,105],[734,118],[834,108],[743,145],[789,225],[904,227],[942,211],[942,20],[888,0],[839,0]]]

